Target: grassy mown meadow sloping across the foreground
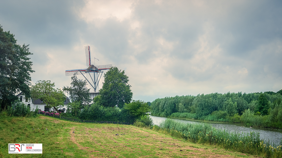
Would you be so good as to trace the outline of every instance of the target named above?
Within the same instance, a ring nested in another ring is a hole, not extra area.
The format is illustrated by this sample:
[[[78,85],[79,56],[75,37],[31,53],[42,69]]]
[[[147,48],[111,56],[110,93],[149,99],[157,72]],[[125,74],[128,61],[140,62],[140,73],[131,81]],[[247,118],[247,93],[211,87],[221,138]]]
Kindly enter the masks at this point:
[[[115,136],[116,133],[125,135]],[[8,143],[42,143],[43,154],[8,154]],[[41,115],[37,118],[0,116],[0,157],[254,156],[185,142],[132,125],[74,123]]]

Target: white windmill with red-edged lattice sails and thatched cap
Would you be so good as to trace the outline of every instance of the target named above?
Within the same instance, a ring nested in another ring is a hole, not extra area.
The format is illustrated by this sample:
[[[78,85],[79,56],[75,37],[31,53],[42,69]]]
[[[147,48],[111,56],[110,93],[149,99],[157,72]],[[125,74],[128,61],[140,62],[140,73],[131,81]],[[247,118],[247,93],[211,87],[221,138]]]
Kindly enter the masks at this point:
[[[99,94],[99,92],[97,92],[97,90],[99,90],[98,83],[103,74],[103,70],[109,70],[112,67],[112,64],[100,65],[100,66],[91,65],[90,46],[85,46],[85,53],[86,53],[86,66],[88,66],[88,68],[77,69],[77,70],[66,70],[65,73],[66,76],[72,76],[74,74],[83,75],[83,77],[93,88],[90,89],[91,99],[93,99],[97,94]],[[95,58],[94,58],[94,64],[95,64]]]

